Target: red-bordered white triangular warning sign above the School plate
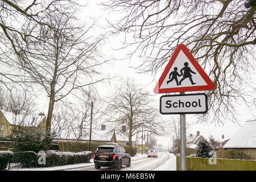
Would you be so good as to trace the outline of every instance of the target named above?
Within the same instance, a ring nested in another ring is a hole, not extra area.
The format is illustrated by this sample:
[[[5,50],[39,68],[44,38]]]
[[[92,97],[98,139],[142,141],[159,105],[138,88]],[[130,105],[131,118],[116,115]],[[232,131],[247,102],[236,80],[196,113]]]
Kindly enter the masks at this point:
[[[215,85],[184,44],[177,46],[154,93],[212,90]]]

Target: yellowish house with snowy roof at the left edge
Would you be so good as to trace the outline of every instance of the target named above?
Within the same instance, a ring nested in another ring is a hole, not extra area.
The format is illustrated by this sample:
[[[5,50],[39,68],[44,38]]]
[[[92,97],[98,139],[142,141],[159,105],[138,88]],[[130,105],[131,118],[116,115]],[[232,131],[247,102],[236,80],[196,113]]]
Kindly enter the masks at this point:
[[[46,128],[46,117],[40,115],[26,115],[18,114],[15,110],[13,112],[0,109],[0,150],[7,150],[9,146],[9,139],[11,129],[22,124],[29,126],[29,123],[34,123],[38,129]]]

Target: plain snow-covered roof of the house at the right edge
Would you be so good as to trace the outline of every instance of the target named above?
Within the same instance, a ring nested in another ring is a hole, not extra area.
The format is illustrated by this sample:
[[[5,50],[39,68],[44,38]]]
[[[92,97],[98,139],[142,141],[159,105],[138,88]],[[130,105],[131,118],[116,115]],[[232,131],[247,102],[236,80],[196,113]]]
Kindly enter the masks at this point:
[[[256,120],[246,121],[224,148],[256,148]]]

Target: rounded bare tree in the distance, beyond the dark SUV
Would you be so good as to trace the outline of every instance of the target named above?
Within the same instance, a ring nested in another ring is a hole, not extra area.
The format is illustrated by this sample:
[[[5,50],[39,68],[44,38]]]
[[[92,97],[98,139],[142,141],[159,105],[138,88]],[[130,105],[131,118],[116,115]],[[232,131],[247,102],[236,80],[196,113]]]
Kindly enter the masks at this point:
[[[109,113],[113,117],[108,121],[114,123],[113,130],[127,136],[130,146],[132,137],[141,132],[142,127],[144,132],[162,134],[163,126],[158,110],[150,106],[150,94],[133,81],[127,79],[121,82],[122,86],[109,101]],[[127,129],[124,130],[121,126],[127,126]]]

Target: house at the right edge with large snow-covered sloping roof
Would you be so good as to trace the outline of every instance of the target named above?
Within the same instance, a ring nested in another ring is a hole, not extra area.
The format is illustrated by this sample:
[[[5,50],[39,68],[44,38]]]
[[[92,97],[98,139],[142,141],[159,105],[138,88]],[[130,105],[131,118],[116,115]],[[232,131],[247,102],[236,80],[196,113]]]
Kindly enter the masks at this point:
[[[245,124],[226,142],[224,150],[236,150],[256,159],[256,120]]]

